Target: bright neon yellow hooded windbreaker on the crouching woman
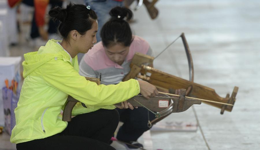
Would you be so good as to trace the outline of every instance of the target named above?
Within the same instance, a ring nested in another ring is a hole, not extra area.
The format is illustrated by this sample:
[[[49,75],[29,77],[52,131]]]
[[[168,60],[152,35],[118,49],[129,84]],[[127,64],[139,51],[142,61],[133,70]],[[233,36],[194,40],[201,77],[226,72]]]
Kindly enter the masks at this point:
[[[100,108],[114,109],[113,104],[140,93],[139,83],[135,79],[108,86],[87,81],[78,73],[77,56],[70,62],[69,54],[54,39],[40,47],[38,52],[25,54],[24,58],[25,79],[14,110],[16,126],[10,138],[12,143],[46,138],[62,132],[68,123],[62,121],[60,110],[68,94],[88,107],[77,104],[72,115],[78,115]]]

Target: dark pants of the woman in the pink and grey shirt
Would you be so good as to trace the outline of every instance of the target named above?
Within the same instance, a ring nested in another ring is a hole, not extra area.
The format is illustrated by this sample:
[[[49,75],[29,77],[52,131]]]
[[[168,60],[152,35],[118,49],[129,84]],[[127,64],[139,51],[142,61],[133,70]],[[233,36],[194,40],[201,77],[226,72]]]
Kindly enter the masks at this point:
[[[119,128],[116,138],[125,142],[136,141],[145,131],[150,128],[148,123],[148,110],[144,107],[137,109],[118,109],[120,121],[124,124]],[[155,119],[155,114],[149,111],[149,119]]]

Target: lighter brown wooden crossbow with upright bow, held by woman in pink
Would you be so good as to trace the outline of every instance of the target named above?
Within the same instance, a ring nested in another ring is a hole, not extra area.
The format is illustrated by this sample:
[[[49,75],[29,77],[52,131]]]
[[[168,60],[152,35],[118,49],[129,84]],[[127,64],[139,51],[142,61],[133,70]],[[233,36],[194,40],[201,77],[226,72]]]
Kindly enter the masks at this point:
[[[222,103],[228,103],[234,105],[238,87],[236,86],[234,87],[231,96],[229,94],[226,94],[226,97],[222,98],[215,92],[214,89],[193,82],[194,69],[193,69],[193,62],[192,62],[190,48],[186,41],[184,33],[182,33],[179,37],[181,37],[183,41],[183,45],[188,59],[189,76],[190,76],[189,80],[185,80],[180,77],[176,77],[174,75],[170,75],[168,73],[164,73],[162,71],[154,69],[153,67],[150,67],[153,66],[153,60],[155,59],[154,57],[141,54],[141,53],[135,53],[130,64],[131,70],[129,74],[127,74],[122,81],[127,81],[129,79],[134,79],[137,77],[153,84],[157,88],[169,90],[169,92],[171,93],[174,93],[173,92],[175,91],[174,89],[187,89],[185,94],[186,96],[209,99],[215,102],[222,102]],[[172,43],[174,43],[177,39],[175,39]],[[150,64],[150,66],[144,65],[147,63]],[[229,105],[222,105],[222,104],[212,103],[212,102],[205,102],[205,103],[220,108],[221,109],[220,114],[223,114],[225,110],[232,111],[233,109],[233,106],[229,106]],[[163,119],[164,117],[161,117],[159,120]],[[156,120],[157,121],[154,120],[153,122],[156,123],[159,121],[157,118]]]

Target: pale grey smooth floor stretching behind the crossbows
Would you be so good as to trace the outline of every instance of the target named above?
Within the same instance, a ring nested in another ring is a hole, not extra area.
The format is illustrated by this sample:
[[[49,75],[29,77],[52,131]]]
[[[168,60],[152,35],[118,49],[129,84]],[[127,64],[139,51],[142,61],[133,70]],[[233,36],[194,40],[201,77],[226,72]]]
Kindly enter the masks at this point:
[[[134,34],[150,43],[155,56],[184,32],[193,58],[194,82],[215,89],[222,97],[234,86],[239,90],[232,112],[220,115],[220,109],[201,104],[167,118],[196,123],[195,132],[151,131],[139,141],[149,150],[259,150],[260,1],[161,0],[156,7],[157,19],[151,20],[142,6],[134,12],[137,22],[131,24]],[[10,53],[22,56],[33,50],[20,43]],[[181,39],[155,59],[154,67],[188,79]],[[0,150],[15,149],[9,138],[0,135]],[[125,150],[116,142],[112,145]]]

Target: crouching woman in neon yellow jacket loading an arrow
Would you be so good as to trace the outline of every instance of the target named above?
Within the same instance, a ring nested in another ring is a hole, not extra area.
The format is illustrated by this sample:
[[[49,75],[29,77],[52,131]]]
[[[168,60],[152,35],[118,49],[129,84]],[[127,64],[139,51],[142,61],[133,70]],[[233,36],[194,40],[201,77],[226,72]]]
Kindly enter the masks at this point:
[[[49,40],[37,52],[24,55],[25,79],[10,140],[18,150],[114,150],[107,144],[119,119],[113,104],[138,93],[149,98],[158,92],[135,79],[108,86],[87,81],[78,73],[77,54],[87,53],[96,43],[95,12],[89,6],[69,4],[66,9],[50,10],[49,15],[61,21],[58,30],[63,40]],[[68,94],[88,107],[74,107],[76,117],[70,122],[60,115]]]

